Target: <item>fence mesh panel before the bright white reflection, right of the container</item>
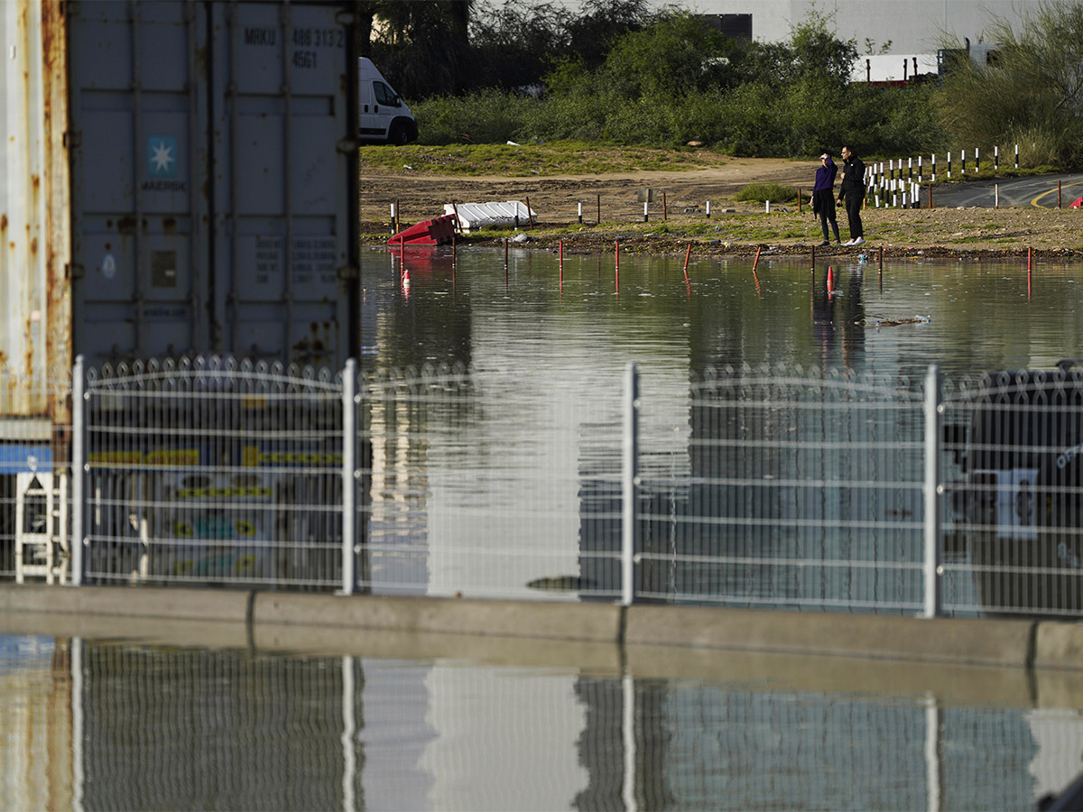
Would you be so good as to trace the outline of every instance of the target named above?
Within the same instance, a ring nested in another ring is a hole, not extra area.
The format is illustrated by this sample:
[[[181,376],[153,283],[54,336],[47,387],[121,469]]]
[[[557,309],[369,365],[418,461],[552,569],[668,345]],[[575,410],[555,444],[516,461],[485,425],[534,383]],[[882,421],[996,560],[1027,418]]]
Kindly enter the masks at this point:
[[[525,410],[484,405],[505,385],[464,368],[363,380],[366,589],[619,594],[619,388],[599,400],[544,388]]]

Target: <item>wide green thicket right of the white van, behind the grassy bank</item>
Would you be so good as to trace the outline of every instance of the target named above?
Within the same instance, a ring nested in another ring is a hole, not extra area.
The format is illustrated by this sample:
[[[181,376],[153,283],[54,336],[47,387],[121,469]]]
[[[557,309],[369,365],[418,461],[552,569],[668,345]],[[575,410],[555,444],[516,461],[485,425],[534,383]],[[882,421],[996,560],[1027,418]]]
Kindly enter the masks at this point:
[[[825,26],[814,17],[793,44],[768,48],[719,43],[692,17],[663,15],[622,38],[597,69],[554,62],[554,92],[542,99],[490,89],[414,103],[419,143],[699,141],[734,156],[807,158],[843,142],[859,155],[937,149],[932,91],[847,86],[840,66],[852,43]]]

